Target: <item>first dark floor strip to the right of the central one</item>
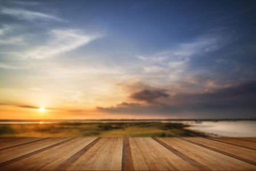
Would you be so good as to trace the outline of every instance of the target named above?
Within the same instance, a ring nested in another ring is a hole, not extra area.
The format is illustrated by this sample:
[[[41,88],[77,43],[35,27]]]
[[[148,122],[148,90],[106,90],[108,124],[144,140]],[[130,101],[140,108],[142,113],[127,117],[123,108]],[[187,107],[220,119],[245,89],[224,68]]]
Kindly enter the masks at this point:
[[[166,149],[170,150],[170,152],[174,153],[176,156],[178,156],[179,158],[181,158],[182,160],[186,161],[188,164],[190,164],[191,166],[194,166],[195,168],[198,168],[200,170],[210,170],[209,168],[207,168],[205,165],[200,164],[199,162],[193,160],[192,158],[186,156],[185,154],[183,154],[182,152],[179,152],[178,150],[174,149],[173,147],[171,147],[170,145],[163,143],[163,141],[157,139],[157,138],[152,138],[153,140],[157,141],[157,143],[161,144],[162,146],[164,146]]]

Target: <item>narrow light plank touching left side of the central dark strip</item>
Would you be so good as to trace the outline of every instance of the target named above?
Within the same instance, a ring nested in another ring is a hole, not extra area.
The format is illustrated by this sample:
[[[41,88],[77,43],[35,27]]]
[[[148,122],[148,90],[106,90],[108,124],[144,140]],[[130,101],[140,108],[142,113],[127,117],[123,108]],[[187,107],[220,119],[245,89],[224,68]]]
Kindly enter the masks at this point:
[[[109,162],[109,166],[107,166],[106,170],[122,170],[122,149],[123,138],[118,138],[117,144],[114,147],[114,152]]]

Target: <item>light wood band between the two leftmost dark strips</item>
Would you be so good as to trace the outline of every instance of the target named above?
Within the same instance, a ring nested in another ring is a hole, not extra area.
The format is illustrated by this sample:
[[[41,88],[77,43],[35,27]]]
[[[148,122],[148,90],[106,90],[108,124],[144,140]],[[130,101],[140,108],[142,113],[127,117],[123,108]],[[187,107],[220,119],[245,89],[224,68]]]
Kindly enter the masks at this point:
[[[11,162],[19,161],[22,158],[33,156],[34,154],[37,154],[42,150],[46,150],[47,148],[53,148],[53,145],[58,145],[58,143],[62,143],[67,140],[69,140],[69,138],[51,138],[37,141],[33,144],[27,144],[11,149],[2,150],[0,151],[0,168],[1,166],[10,164]]]

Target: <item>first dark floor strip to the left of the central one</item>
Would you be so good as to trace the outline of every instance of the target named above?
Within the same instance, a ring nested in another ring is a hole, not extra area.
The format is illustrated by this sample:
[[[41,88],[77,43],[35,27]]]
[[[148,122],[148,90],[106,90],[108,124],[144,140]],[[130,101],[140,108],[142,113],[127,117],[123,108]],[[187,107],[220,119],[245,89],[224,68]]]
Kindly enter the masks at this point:
[[[54,170],[66,170],[71,164],[73,164],[75,161],[77,161],[79,157],[81,157],[84,153],[86,153],[87,150],[89,150],[91,147],[93,147],[101,139],[102,139],[101,137],[98,137],[97,139],[92,141],[90,144],[86,145],[84,148],[79,150],[77,153],[73,154],[73,156],[71,156],[67,160],[63,161]]]

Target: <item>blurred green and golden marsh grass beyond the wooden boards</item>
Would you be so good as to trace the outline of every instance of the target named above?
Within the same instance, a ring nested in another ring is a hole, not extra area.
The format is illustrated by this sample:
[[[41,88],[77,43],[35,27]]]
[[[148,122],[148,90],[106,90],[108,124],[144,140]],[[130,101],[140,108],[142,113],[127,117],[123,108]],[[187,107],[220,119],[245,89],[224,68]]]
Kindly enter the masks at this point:
[[[191,137],[181,123],[58,123],[1,124],[1,137]]]

